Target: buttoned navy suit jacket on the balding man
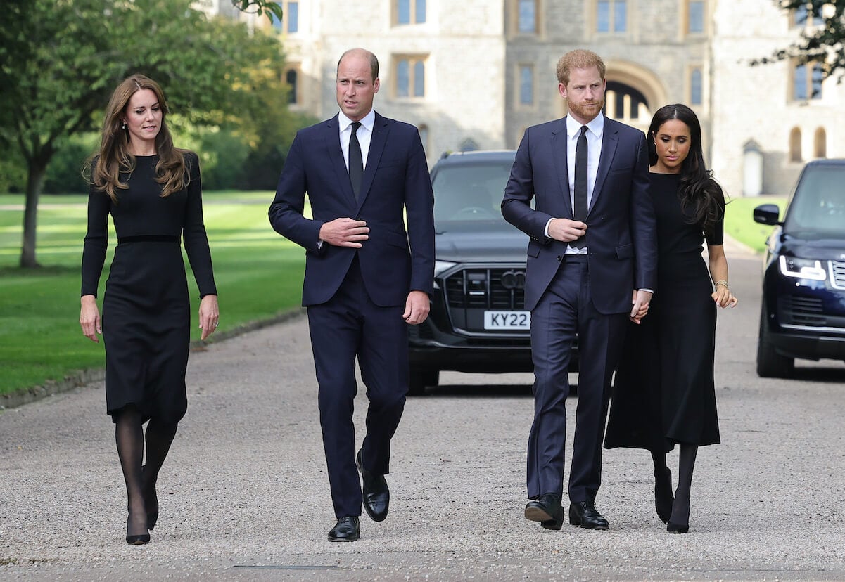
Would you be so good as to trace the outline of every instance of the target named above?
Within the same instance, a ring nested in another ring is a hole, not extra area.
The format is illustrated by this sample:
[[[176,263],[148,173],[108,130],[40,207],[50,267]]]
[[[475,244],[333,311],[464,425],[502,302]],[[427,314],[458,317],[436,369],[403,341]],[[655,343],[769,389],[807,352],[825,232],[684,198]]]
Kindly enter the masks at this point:
[[[306,193],[312,219],[303,216]],[[338,116],[297,132],[269,215],[275,231],[306,249],[303,305],[329,301],[356,253],[364,285],[377,305],[405,305],[413,290],[431,293],[433,200],[425,151],[414,126],[375,114],[357,202],[341,150]],[[320,227],[345,217],[366,220],[370,230],[363,246],[319,245]]]

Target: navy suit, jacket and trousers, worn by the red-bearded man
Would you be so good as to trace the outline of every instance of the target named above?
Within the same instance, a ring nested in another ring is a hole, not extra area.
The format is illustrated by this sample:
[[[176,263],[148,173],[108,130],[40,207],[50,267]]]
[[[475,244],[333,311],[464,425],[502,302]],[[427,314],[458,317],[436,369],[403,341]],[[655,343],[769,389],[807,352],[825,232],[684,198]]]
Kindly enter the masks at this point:
[[[579,378],[570,501],[594,501],[601,484],[609,386],[635,289],[655,290],[654,211],[646,188],[643,133],[605,118],[586,218],[586,256],[545,236],[551,218],[572,219],[566,118],[526,130],[505,188],[505,220],[531,237],[526,309],[532,310],[534,423],[528,442],[528,496],[562,494],[565,399],[578,338]],[[532,199],[535,208],[532,209]]]

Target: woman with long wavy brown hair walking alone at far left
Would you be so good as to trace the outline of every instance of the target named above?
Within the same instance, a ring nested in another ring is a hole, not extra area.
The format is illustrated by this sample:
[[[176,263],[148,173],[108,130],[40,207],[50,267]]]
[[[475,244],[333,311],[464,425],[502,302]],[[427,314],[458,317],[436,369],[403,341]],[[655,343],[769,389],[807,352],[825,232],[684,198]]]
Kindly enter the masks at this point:
[[[199,159],[173,146],[166,113],[161,87],[144,75],[125,79],[114,90],[99,154],[91,161],[82,255],[79,324],[85,337],[98,341],[102,334],[106,345],[106,411],[115,423],[126,481],[130,545],[150,541],[159,514],[159,470],[188,409],[185,371],[191,317],[181,239],[201,296],[203,340],[214,332],[219,318]],[[117,247],[101,319],[96,296],[106,260],[109,214]]]

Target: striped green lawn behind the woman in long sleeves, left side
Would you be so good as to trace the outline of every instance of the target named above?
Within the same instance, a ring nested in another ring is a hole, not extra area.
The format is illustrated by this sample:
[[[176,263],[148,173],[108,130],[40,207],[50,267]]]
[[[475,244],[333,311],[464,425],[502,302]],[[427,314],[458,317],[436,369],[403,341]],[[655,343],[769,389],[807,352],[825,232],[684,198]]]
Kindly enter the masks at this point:
[[[220,293],[218,331],[271,318],[302,298],[305,253],[267,221],[273,193],[205,193],[215,279]],[[79,329],[79,264],[85,237],[85,196],[44,196],[38,212],[40,269],[19,269],[23,196],[0,196],[0,394],[102,367],[102,342]],[[110,240],[114,244],[114,235]],[[106,257],[111,262],[113,247]],[[187,264],[187,263],[186,263]],[[107,269],[101,277],[99,296]],[[194,280],[192,337],[199,339]],[[214,336],[212,336],[213,338]]]

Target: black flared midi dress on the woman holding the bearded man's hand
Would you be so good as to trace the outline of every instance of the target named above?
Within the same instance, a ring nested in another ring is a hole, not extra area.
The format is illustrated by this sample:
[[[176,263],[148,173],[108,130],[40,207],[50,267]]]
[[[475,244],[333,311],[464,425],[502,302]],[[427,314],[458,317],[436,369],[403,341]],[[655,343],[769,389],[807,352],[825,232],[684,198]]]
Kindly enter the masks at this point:
[[[689,224],[680,176],[650,175],[657,216],[657,290],[640,325],[630,324],[613,382],[604,446],[667,452],[675,443],[719,443],[713,361],[716,303],[702,243],[721,245]]]

